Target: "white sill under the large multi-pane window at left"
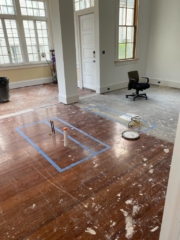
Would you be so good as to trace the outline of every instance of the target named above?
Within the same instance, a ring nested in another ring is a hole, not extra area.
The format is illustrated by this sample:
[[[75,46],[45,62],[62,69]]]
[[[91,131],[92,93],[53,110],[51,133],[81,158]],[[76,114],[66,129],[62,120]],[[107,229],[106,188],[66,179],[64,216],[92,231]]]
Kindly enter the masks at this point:
[[[22,63],[22,64],[14,64],[14,65],[6,65],[6,66],[0,66],[1,71],[7,71],[11,69],[22,69],[22,68],[38,68],[38,67],[46,67],[48,66],[47,63]]]

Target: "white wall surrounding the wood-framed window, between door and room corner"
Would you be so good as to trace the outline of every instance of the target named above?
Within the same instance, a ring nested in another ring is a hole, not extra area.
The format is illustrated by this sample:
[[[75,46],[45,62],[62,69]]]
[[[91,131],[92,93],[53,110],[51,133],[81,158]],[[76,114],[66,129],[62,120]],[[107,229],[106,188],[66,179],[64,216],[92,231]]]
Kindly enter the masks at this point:
[[[151,0],[139,1],[138,26],[138,58],[139,60],[115,64],[116,33],[118,0],[99,0],[99,28],[100,28],[100,89],[99,92],[121,87],[127,87],[127,72],[138,70],[140,75],[146,73],[147,52],[149,41],[149,26],[151,13]],[[105,50],[106,53],[102,54]]]

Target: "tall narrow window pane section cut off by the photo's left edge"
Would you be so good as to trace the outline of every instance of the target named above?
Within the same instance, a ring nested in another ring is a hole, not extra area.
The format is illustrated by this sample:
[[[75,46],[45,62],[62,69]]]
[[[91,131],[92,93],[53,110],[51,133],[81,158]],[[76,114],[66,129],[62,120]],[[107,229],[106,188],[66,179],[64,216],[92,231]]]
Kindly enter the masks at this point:
[[[2,22],[0,19],[0,65],[10,63]]]

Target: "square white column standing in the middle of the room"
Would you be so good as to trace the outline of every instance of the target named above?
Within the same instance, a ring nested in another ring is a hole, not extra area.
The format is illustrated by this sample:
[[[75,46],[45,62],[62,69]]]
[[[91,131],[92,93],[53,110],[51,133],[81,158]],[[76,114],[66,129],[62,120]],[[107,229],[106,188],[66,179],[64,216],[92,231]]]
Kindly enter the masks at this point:
[[[59,101],[65,104],[78,102],[73,1],[51,0],[49,4],[56,54]]]

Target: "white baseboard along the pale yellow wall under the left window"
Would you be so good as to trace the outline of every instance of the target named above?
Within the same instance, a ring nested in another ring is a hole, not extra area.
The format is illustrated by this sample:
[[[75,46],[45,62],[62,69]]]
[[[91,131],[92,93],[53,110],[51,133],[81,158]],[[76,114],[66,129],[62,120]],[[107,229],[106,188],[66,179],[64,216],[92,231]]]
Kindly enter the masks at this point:
[[[14,88],[28,87],[28,86],[51,83],[51,82],[53,82],[52,77],[26,80],[26,81],[20,81],[20,82],[12,82],[12,83],[10,82],[9,88],[14,89]]]

